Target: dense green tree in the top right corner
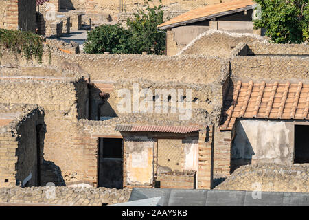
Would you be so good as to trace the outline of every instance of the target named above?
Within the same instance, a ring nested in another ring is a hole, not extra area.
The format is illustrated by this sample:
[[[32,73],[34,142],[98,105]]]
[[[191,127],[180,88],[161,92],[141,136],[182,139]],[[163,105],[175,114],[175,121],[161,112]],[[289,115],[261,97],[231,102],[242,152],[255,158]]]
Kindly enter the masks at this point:
[[[265,28],[275,43],[303,43],[309,39],[308,0],[253,0],[260,4],[254,27]]]

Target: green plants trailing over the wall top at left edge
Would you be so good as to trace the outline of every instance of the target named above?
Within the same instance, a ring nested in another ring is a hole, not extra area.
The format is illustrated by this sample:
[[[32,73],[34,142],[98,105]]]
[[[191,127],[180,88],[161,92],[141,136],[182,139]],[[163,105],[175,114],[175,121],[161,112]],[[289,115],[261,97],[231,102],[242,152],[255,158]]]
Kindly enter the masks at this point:
[[[28,60],[34,57],[39,63],[42,62],[43,39],[32,32],[0,29],[0,44]]]

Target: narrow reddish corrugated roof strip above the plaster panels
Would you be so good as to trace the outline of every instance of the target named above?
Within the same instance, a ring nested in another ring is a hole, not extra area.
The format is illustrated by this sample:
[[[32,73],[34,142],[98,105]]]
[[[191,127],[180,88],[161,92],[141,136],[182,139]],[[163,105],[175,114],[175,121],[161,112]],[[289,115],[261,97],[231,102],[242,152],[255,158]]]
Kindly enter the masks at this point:
[[[170,133],[190,133],[200,131],[198,126],[140,126],[140,125],[116,125],[116,131],[127,132],[170,132]]]

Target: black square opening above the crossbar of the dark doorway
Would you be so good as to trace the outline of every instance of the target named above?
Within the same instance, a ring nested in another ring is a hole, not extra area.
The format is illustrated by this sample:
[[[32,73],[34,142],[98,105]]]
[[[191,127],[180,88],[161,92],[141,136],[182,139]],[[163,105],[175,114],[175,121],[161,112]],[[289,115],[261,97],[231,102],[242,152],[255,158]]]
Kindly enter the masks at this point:
[[[103,158],[122,158],[122,139],[103,138]]]

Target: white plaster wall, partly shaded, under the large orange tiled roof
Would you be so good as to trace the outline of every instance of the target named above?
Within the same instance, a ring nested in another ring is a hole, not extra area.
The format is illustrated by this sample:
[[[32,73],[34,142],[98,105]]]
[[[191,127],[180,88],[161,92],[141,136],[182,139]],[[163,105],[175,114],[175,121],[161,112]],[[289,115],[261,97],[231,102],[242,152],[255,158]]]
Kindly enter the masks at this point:
[[[238,120],[231,159],[291,164],[293,140],[290,132],[284,121]]]

